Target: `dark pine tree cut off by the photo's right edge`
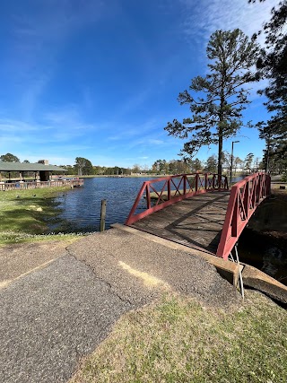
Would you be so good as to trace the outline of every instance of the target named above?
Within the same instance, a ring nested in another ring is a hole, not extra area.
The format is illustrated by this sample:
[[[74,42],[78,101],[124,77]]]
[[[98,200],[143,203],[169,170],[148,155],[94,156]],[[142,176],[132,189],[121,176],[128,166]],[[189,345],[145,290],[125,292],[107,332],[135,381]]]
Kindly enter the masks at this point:
[[[259,91],[265,94],[265,106],[272,114],[259,125],[260,137],[265,139],[265,170],[269,161],[282,162],[287,167],[287,0],[273,8],[272,17],[264,25],[265,48],[260,50],[257,69],[261,78],[269,80]]]

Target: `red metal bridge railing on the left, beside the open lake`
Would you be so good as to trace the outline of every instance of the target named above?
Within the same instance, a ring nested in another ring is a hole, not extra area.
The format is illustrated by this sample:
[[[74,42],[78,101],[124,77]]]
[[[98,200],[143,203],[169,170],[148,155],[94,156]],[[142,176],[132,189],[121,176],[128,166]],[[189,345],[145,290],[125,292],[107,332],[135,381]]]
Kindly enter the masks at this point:
[[[227,177],[210,173],[190,173],[145,181],[125,224],[131,225],[166,206],[213,190],[228,190]]]

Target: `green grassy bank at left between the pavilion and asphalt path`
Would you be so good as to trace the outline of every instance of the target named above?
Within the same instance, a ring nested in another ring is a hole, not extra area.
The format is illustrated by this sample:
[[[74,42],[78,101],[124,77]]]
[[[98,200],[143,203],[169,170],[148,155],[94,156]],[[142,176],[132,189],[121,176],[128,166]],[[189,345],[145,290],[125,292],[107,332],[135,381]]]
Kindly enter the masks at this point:
[[[60,211],[54,202],[69,187],[11,190],[0,192],[0,245],[51,239],[43,235],[48,224],[58,221]],[[53,239],[64,239],[63,235]]]

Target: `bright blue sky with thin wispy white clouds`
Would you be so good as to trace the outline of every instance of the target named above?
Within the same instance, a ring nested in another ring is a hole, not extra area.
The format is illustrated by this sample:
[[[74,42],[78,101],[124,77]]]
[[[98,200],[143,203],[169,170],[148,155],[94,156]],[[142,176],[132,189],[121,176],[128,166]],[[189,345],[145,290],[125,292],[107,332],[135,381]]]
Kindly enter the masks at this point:
[[[217,29],[251,36],[279,1],[11,0],[0,5],[0,154],[57,165],[151,166],[184,142],[163,130],[189,111],[177,101],[206,73]],[[246,121],[266,119],[251,91]],[[262,157],[257,131],[233,138],[240,158]],[[230,152],[231,141],[223,149]],[[216,153],[202,148],[200,160]]]

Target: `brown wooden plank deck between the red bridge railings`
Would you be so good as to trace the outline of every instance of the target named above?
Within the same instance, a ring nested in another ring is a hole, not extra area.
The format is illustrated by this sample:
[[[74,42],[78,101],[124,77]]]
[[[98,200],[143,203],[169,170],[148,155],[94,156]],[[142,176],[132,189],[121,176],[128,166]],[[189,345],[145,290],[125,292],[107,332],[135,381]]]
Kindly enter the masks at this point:
[[[135,222],[136,229],[190,248],[216,253],[230,192],[208,192],[187,198]]]

